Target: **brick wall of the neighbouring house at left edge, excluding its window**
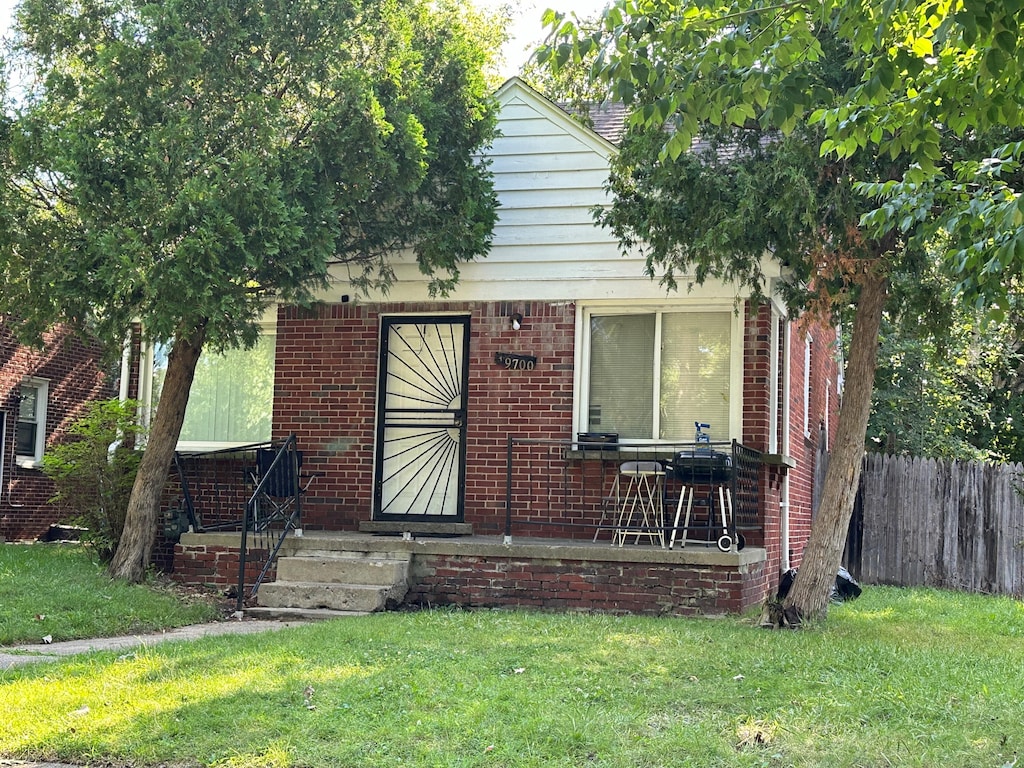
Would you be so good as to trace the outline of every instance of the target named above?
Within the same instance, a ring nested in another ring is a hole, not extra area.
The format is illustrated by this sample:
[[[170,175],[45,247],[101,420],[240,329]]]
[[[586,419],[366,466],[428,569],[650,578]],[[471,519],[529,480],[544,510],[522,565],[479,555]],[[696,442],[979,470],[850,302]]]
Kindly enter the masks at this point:
[[[0,325],[0,408],[7,415],[7,435],[0,452],[0,538],[34,540],[57,522],[59,513],[47,500],[53,484],[42,470],[18,467],[14,461],[14,424],[19,386],[29,377],[49,381],[46,408],[47,445],[63,438],[68,425],[78,419],[91,400],[113,397],[114,376],[100,364],[101,348],[67,329],[55,329],[44,338],[43,349],[17,343],[9,328]]]

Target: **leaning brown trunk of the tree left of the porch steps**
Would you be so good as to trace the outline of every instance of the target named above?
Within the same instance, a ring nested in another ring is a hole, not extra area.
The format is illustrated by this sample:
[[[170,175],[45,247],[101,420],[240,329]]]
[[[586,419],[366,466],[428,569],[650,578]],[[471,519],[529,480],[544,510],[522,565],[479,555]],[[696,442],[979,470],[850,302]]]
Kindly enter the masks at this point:
[[[205,338],[205,326],[195,329],[187,337],[177,336],[167,357],[160,403],[128,500],[121,542],[110,565],[110,574],[116,579],[140,582],[145,577],[157,540],[160,498],[181,434],[188,390]]]

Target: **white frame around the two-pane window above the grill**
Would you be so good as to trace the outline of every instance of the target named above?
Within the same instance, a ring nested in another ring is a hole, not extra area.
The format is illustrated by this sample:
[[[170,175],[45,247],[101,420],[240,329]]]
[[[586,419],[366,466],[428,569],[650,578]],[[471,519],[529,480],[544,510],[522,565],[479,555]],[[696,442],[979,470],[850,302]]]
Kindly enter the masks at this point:
[[[654,314],[665,312],[728,312],[731,317],[729,338],[729,425],[724,433],[717,425],[713,427],[712,440],[715,442],[741,439],[743,434],[743,314],[737,312],[731,301],[687,302],[687,303],[639,303],[580,302],[577,304],[575,353],[573,355],[572,381],[572,434],[585,429],[590,411],[590,321],[592,315],[604,314]],[[660,314],[656,325],[660,331]],[[660,370],[660,349],[654,350],[655,371]],[[654,402],[658,401],[657,387],[660,377],[654,380]],[[660,430],[660,413],[654,409],[653,434]],[[624,438],[625,439],[625,438]],[[693,434],[673,438],[630,438],[631,443],[684,442],[692,441]]]

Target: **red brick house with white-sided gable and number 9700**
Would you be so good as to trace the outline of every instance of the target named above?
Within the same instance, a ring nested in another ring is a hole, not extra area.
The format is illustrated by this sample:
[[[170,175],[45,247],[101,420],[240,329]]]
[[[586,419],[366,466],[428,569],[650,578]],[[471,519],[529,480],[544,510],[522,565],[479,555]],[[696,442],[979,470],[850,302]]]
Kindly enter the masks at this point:
[[[272,402],[263,431],[222,439],[198,426],[185,447],[295,434],[303,471],[319,475],[302,501],[303,540],[404,553],[406,602],[649,613],[760,603],[799,564],[810,528],[841,394],[836,330],[798,330],[780,301],[756,306],[732,285],[667,293],[593,223],[614,144],[518,79],[497,99],[501,209],[486,258],[464,265],[444,299],[398,259],[386,297],[350,300],[339,273],[319,306],[279,307],[262,362],[247,368],[273,360],[272,384],[254,395]],[[720,530],[672,548],[652,530],[682,510],[685,492],[664,470],[693,447],[697,423],[719,453],[758,459],[743,541],[726,551]],[[616,442],[594,452],[581,434]],[[666,519],[613,546],[630,461],[659,463],[645,493]],[[237,563],[238,535],[186,534],[174,548],[185,581],[229,584]]]

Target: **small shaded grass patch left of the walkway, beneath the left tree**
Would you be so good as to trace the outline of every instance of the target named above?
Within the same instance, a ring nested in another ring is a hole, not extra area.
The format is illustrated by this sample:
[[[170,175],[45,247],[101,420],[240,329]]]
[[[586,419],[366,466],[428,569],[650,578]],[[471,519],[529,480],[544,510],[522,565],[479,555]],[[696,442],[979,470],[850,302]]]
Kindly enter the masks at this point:
[[[220,612],[156,583],[112,581],[81,546],[0,544],[0,645],[153,632]]]

